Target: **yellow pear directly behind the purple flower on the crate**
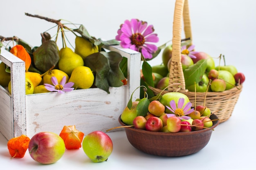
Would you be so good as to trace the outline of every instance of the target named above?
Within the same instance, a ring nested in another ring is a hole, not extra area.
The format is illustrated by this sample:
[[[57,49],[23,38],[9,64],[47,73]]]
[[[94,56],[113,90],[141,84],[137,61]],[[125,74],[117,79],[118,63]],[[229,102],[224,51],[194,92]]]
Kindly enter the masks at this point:
[[[67,73],[59,69],[53,69],[53,70],[47,71],[44,74],[43,83],[52,84],[52,77],[56,77],[56,79],[58,80],[58,83],[60,83],[64,76],[66,76],[66,82],[67,82],[69,79],[69,76],[67,75]]]

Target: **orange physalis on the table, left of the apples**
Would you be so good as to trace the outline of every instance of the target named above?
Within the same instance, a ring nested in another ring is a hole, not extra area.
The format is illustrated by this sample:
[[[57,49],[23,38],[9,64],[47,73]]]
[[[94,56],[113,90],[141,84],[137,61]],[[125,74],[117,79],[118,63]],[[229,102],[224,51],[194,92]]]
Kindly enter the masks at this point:
[[[23,158],[27,148],[29,147],[29,137],[26,135],[20,135],[19,137],[13,137],[7,142],[7,147],[11,157]]]

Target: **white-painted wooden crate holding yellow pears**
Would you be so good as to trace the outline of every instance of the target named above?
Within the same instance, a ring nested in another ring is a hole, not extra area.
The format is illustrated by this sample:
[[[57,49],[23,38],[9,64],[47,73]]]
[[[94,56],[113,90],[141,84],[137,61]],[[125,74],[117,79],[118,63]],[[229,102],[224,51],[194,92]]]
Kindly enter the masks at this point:
[[[0,132],[8,140],[21,134],[32,137],[40,131],[59,134],[63,126],[75,125],[85,135],[119,126],[118,117],[132,92],[140,85],[141,54],[120,46],[106,47],[128,58],[127,85],[25,95],[25,62],[1,49],[0,60],[11,68],[11,94],[0,86]],[[132,100],[139,98],[139,90]],[[121,129],[117,129],[121,130]]]

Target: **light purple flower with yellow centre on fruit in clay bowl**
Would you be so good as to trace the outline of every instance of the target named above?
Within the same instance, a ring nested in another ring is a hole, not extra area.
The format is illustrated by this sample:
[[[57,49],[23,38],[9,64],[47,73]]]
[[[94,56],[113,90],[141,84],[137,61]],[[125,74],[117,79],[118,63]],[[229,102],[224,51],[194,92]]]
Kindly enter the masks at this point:
[[[167,114],[167,117],[173,117],[173,116],[176,116],[176,117],[179,117],[180,119],[185,119],[185,120],[188,120],[190,119],[191,117],[189,116],[186,116],[188,115],[189,113],[192,113],[194,111],[194,108],[191,108],[192,106],[192,103],[191,102],[188,102],[185,106],[184,106],[184,101],[185,99],[184,98],[180,98],[179,101],[178,101],[178,108],[176,107],[176,103],[174,100],[172,100],[170,102],[170,107],[166,106],[169,110],[171,110],[171,112],[173,114]],[[183,108],[184,106],[184,108]]]

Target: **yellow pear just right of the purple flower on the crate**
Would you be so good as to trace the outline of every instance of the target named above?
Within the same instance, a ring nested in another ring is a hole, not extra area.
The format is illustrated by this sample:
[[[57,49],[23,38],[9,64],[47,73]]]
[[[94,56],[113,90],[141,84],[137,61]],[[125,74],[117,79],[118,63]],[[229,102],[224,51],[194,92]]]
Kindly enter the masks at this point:
[[[90,88],[94,82],[94,75],[89,67],[78,66],[72,71],[69,82],[73,82],[73,87],[77,89]]]

